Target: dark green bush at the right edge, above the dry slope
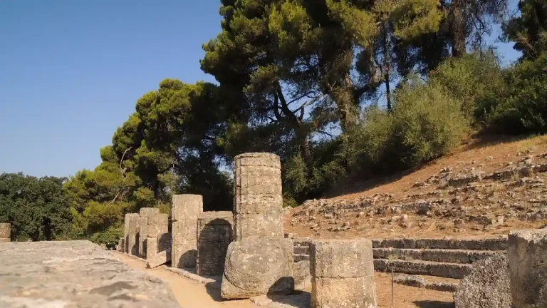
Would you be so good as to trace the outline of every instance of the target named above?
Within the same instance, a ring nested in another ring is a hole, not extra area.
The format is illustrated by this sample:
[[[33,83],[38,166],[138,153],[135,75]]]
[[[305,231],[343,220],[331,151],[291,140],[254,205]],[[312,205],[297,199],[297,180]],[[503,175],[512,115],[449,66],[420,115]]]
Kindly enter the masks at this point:
[[[504,133],[547,133],[547,55],[507,72],[508,96],[488,117]]]

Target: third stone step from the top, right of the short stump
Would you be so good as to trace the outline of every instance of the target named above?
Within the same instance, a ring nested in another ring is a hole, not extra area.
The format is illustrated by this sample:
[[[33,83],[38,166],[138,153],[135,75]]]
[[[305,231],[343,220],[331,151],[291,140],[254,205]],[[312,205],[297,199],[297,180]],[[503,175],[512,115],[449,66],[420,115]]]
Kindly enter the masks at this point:
[[[472,265],[461,263],[375,259],[374,269],[380,272],[397,272],[427,276],[462,279],[471,272]]]

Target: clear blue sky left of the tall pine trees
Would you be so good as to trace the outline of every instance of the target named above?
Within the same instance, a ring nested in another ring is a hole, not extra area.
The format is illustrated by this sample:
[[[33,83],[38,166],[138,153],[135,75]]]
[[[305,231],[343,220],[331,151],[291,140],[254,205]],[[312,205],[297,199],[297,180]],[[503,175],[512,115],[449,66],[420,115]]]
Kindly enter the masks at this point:
[[[137,98],[163,78],[213,81],[199,59],[220,30],[219,5],[0,1],[0,173],[93,169]]]

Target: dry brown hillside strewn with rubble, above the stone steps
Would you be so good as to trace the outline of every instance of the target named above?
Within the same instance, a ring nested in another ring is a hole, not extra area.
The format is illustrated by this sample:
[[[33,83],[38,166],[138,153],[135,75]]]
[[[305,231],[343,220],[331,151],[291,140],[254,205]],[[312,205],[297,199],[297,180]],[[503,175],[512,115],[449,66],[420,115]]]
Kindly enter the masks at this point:
[[[286,215],[297,237],[474,237],[547,223],[547,138],[475,141],[390,182],[308,200]]]

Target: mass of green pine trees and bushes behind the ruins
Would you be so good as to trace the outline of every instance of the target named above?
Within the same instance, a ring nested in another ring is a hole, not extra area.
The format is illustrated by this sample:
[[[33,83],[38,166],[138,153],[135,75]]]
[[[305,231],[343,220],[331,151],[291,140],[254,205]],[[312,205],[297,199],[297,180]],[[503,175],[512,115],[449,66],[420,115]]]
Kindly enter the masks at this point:
[[[169,212],[174,193],[231,209],[239,153],[278,154],[285,205],[296,206],[428,163],[472,133],[547,131],[545,1],[520,1],[519,14],[506,0],[221,4],[222,31],[201,61],[217,83],[165,79],[145,93],[102,163],[58,188],[70,227],[36,238],[111,244],[126,212]],[[522,52],[505,67],[484,43],[499,25]],[[27,237],[17,200],[0,186],[0,221],[14,222],[16,240]]]

